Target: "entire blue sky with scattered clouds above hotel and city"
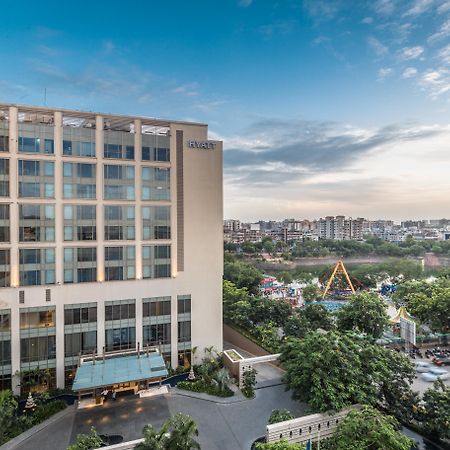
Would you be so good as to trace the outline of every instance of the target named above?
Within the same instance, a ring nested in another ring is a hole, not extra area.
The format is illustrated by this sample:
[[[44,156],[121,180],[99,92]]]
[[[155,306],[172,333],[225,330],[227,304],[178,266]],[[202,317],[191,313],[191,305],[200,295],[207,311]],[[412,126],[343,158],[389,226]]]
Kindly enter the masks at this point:
[[[208,123],[226,218],[450,217],[450,0],[3,0],[0,39],[0,102]]]

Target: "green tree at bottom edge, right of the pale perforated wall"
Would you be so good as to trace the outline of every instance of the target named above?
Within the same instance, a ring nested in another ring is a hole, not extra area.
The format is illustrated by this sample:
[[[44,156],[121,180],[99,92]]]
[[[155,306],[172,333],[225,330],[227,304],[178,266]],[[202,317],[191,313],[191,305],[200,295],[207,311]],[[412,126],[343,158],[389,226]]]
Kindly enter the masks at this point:
[[[321,443],[329,450],[410,450],[413,441],[398,431],[398,422],[371,407],[351,411],[335,435]]]

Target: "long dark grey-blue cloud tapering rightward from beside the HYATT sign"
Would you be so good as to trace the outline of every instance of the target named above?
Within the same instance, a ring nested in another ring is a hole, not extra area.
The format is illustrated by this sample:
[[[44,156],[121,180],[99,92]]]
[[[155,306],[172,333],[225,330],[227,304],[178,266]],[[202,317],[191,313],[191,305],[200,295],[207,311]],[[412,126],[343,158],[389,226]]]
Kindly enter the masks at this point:
[[[439,131],[389,126],[360,129],[334,122],[261,121],[225,139],[225,171],[236,183],[271,185],[344,170],[364,155]]]

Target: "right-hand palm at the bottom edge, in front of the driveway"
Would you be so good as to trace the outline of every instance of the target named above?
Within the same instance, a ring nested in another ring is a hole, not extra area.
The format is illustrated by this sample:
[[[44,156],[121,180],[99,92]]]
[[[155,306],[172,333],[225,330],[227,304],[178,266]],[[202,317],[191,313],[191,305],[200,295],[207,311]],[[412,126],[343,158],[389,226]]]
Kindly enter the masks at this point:
[[[170,450],[200,449],[200,444],[194,439],[195,436],[198,436],[197,425],[191,416],[177,413],[166,423],[170,428],[163,436],[163,448]]]

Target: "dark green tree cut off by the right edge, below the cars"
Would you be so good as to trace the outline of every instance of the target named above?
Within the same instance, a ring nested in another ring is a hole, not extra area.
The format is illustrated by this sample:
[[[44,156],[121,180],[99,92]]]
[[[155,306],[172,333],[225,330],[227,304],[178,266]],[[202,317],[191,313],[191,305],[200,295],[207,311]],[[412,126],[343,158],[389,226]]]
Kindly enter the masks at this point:
[[[433,389],[423,395],[422,423],[429,433],[440,439],[450,438],[450,387],[435,381]]]

